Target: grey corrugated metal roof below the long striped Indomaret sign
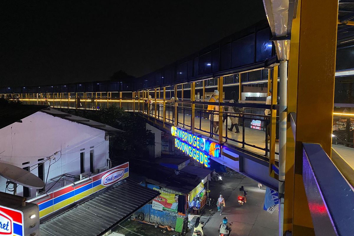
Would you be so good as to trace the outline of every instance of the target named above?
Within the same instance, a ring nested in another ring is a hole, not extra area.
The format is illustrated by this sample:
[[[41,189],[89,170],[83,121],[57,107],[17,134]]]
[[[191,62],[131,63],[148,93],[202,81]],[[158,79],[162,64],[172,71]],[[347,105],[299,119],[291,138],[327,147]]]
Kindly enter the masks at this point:
[[[98,236],[159,192],[127,181],[40,225],[41,236]]]

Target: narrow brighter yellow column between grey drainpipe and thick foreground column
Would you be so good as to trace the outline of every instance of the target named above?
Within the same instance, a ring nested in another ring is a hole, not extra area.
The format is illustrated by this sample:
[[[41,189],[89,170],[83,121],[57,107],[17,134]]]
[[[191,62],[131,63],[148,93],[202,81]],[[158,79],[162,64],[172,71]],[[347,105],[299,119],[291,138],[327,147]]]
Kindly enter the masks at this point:
[[[296,113],[297,101],[297,70],[299,57],[299,30],[300,30],[300,6],[298,1],[296,18],[292,21],[291,40],[290,40],[290,58],[288,67],[288,85],[287,85],[287,114]],[[268,96],[270,89],[270,70],[268,70]],[[295,139],[291,128],[290,117],[286,124],[286,156],[285,156],[285,184],[284,184],[284,220],[283,234],[286,231],[292,231],[293,215],[293,194],[294,194],[294,157],[295,157]]]

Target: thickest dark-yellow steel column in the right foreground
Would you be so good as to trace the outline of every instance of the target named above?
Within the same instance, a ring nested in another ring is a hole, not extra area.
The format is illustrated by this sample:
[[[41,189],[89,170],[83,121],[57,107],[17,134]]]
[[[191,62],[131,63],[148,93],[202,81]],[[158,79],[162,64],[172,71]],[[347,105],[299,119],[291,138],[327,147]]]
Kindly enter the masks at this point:
[[[319,5],[321,7],[317,7],[316,14],[313,14],[312,9]],[[302,178],[302,143],[319,143],[327,155],[331,156],[338,1],[301,1],[300,9],[292,231],[294,236],[315,235]],[[316,122],[310,122],[309,119]]]

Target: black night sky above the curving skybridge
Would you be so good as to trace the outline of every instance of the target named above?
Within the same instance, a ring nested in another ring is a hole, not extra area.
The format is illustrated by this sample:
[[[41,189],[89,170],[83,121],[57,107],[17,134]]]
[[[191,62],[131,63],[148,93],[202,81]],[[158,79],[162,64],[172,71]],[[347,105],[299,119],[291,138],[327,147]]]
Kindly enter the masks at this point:
[[[262,19],[262,0],[1,1],[0,85],[141,76]]]

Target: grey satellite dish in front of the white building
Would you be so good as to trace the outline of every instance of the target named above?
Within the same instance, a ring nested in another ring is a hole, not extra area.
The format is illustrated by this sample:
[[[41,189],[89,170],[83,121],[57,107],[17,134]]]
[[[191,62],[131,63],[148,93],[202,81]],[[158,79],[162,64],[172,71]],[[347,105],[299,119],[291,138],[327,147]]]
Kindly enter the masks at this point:
[[[0,163],[0,175],[13,183],[28,187],[41,189],[44,188],[44,182],[34,174],[18,166],[6,163]]]

